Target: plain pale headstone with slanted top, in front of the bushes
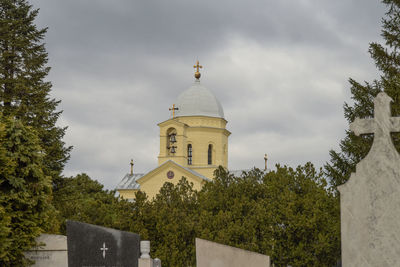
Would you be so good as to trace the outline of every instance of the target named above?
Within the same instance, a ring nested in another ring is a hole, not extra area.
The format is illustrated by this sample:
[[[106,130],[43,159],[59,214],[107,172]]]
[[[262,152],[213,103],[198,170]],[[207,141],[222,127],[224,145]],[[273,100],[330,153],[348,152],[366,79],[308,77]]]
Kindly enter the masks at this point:
[[[269,257],[196,238],[197,267],[270,267]]]

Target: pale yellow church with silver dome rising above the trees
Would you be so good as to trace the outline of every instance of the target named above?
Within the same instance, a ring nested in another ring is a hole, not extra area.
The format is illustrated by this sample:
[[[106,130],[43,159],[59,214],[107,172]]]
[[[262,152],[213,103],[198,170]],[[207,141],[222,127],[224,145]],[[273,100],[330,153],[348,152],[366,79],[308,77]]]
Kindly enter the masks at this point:
[[[158,167],[145,174],[126,174],[117,186],[124,199],[133,200],[138,190],[153,198],[165,182],[178,183],[185,177],[200,189],[211,181],[219,165],[228,168],[227,121],[221,103],[200,83],[200,68],[194,66],[195,81],[182,92],[170,109],[172,118],[158,124],[160,153]]]

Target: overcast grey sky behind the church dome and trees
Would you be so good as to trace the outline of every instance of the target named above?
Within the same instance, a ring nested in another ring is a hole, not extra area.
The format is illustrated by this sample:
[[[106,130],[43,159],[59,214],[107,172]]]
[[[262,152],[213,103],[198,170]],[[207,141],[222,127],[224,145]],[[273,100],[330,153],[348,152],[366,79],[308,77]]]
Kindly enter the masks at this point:
[[[381,42],[378,0],[32,0],[60,126],[74,146],[67,176],[114,188],[157,166],[159,128],[193,83],[220,100],[229,169],[317,167],[348,125],[348,79],[379,76],[368,44]]]

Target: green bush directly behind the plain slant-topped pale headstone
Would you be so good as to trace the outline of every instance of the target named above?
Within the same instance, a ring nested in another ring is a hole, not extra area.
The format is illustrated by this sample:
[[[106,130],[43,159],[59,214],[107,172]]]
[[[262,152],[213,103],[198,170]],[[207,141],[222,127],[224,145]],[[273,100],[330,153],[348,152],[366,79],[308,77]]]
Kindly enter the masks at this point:
[[[234,177],[223,168],[199,193],[198,237],[271,255],[272,207],[263,173]]]

